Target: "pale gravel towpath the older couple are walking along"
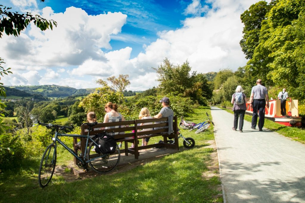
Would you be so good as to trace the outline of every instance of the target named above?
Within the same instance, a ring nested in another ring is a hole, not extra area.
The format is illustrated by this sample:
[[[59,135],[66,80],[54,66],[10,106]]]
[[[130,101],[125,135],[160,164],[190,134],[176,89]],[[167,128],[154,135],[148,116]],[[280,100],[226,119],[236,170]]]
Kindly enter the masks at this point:
[[[305,145],[263,128],[233,131],[234,115],[211,107],[227,203],[305,202]]]

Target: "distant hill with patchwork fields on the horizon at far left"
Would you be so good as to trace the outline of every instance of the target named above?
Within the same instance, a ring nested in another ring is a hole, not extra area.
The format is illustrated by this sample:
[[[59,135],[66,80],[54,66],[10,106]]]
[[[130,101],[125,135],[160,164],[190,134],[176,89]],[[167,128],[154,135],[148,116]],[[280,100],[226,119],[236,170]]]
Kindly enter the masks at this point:
[[[21,94],[21,92],[29,94],[39,94],[45,97],[67,97],[67,96],[86,96],[94,92],[95,88],[92,89],[75,89],[69,86],[58,86],[58,85],[37,85],[37,86],[8,86],[5,87],[11,96],[19,96],[15,94]],[[17,92],[16,90],[20,92]],[[12,93],[12,94],[11,94]],[[9,95],[7,95],[9,96]]]

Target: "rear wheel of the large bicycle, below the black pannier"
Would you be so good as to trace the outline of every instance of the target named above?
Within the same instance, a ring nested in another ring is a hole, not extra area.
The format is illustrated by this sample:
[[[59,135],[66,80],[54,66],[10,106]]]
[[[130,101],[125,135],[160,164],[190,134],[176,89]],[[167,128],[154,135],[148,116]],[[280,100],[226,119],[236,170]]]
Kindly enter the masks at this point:
[[[98,143],[99,139],[95,140]],[[96,153],[94,142],[91,142],[88,148],[87,159],[91,160],[89,165],[96,173],[107,173],[117,167],[120,161],[120,148],[116,145],[116,150],[112,154]]]

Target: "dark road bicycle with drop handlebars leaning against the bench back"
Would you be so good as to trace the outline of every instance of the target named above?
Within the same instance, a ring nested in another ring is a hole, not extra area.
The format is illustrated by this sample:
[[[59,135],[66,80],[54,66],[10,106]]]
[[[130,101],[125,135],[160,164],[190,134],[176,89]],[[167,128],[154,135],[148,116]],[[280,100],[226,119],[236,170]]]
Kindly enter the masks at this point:
[[[107,173],[113,169],[115,169],[120,161],[120,149],[119,146],[116,145],[116,150],[112,154],[110,153],[97,153],[95,152],[95,146],[99,146],[96,135],[90,135],[90,131],[93,126],[97,124],[97,122],[93,123],[84,123],[89,126],[88,135],[74,135],[74,134],[65,134],[59,133],[59,130],[72,129],[72,126],[60,126],[54,124],[45,124],[38,123],[39,125],[45,126],[48,129],[55,129],[55,136],[52,138],[53,143],[48,145],[47,149],[42,155],[39,173],[38,173],[38,182],[40,187],[45,187],[52,179],[55,166],[56,166],[56,158],[57,158],[57,146],[58,144],[62,145],[66,150],[68,150],[76,159],[77,166],[83,168],[88,171],[88,164],[91,169],[96,173]],[[85,145],[84,156],[82,153],[76,154],[73,149],[67,147],[67,145],[60,140],[61,137],[77,137],[77,138],[87,138]],[[91,143],[89,144],[89,141]]]

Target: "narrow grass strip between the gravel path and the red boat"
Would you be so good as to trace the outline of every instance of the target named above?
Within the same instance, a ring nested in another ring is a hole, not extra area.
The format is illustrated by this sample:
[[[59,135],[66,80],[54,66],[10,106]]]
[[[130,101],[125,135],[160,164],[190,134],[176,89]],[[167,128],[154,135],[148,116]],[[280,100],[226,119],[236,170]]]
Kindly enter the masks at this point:
[[[228,111],[229,113],[233,114],[233,111],[231,109],[225,109],[222,107],[219,107],[219,108],[224,109],[224,110]],[[245,120],[251,122],[252,115],[246,114]],[[258,121],[258,119],[257,119],[257,121]],[[233,125],[233,123],[232,123],[232,125]],[[295,141],[305,144],[305,130],[303,130],[301,128],[288,127],[285,125],[281,125],[281,124],[275,123],[267,118],[265,119],[264,128],[268,128],[274,132],[284,135],[285,137],[292,138]]]

